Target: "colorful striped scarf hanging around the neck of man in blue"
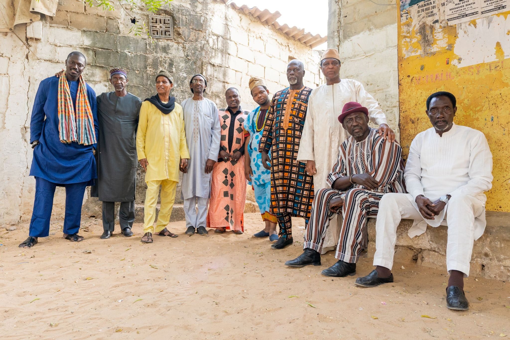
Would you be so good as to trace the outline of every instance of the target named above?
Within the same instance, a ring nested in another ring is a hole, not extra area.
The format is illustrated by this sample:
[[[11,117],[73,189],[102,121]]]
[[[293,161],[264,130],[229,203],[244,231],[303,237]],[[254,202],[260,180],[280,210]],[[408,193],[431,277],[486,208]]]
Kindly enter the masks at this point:
[[[65,72],[59,78],[59,137],[62,143],[77,142],[90,145],[96,143],[94,117],[87,96],[87,86],[81,75],[78,81],[74,112]]]

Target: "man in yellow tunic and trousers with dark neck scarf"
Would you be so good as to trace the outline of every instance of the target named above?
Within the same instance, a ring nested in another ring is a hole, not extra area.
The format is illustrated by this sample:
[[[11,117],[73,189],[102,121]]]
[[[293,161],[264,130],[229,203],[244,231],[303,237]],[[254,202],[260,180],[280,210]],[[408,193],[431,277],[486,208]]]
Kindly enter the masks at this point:
[[[146,171],[143,243],[152,243],[152,233],[177,237],[167,230],[170,221],[179,170],[188,171],[190,154],[184,130],[183,108],[170,97],[173,78],[165,70],[156,76],[156,95],[143,101],[136,137],[138,160]],[[161,185],[161,208],[156,227],[156,203]]]

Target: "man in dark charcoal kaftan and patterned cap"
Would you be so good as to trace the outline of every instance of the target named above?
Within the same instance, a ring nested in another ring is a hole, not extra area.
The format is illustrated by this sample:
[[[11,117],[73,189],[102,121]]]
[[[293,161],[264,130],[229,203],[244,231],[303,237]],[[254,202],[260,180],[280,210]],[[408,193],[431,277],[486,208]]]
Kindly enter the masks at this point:
[[[115,202],[120,202],[121,233],[133,235],[135,221],[136,138],[141,100],[126,91],[127,75],[123,69],[110,71],[115,91],[97,96],[99,138],[97,143],[97,182],[91,196],[103,202],[103,235],[110,238],[115,224]]]

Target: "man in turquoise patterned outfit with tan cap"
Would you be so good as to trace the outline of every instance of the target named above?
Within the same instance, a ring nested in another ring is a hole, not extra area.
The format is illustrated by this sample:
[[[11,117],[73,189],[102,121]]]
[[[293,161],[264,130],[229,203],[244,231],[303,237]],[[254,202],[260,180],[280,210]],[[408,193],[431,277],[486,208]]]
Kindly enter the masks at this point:
[[[270,170],[262,166],[262,155],[259,151],[259,144],[262,139],[264,124],[266,123],[266,114],[271,106],[269,100],[269,91],[264,81],[259,77],[251,77],[249,88],[253,100],[259,104],[259,107],[251,111],[244,123],[244,129],[250,133],[250,140],[245,144],[244,174],[251,184],[255,200],[259,205],[262,220],[266,223],[263,230],[253,235],[256,238],[265,238],[269,236],[269,241],[276,242],[278,234],[276,232],[276,216],[269,212],[271,200],[271,181]]]

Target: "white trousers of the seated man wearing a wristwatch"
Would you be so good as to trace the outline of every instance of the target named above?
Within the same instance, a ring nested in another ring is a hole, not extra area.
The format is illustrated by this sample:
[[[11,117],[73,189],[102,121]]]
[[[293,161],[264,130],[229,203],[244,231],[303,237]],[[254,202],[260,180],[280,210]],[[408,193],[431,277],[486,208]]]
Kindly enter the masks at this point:
[[[379,202],[375,223],[374,266],[393,267],[393,255],[397,241],[397,226],[401,219],[422,220],[420,212],[410,201],[410,194],[389,193]],[[484,213],[483,203],[466,195],[452,197],[446,206],[448,242],[446,244],[446,268],[458,270],[469,276],[469,263],[473,252],[474,220]]]

